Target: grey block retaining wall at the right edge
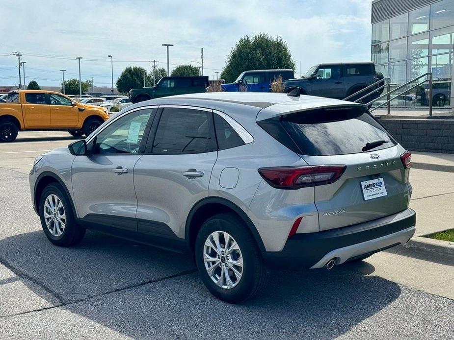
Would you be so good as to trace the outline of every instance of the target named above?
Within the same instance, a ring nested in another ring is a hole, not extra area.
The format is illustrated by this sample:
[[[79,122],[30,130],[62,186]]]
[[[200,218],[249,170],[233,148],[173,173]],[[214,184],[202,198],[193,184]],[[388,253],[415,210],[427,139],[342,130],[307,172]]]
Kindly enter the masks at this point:
[[[380,119],[409,151],[454,153],[454,120]]]

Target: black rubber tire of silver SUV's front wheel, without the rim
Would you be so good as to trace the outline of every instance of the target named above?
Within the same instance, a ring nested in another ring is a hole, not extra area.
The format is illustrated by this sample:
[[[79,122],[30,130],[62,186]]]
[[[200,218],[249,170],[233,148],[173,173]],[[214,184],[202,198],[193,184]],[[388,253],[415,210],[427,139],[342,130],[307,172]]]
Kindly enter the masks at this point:
[[[65,210],[66,216],[65,229],[63,230],[63,233],[58,237],[52,235],[52,233],[46,226],[46,221],[44,220],[44,203],[46,198],[50,194],[55,194],[56,196],[58,196]],[[79,228],[79,226],[77,225],[76,220],[74,219],[74,214],[72,211],[71,204],[69,203],[68,197],[58,185],[47,186],[46,189],[44,189],[43,193],[41,194],[41,197],[39,199],[39,219],[41,221],[41,226],[44,230],[44,233],[46,234],[46,237],[53,244],[66,246],[73,243],[72,241],[74,238],[74,234],[76,233],[76,228]]]

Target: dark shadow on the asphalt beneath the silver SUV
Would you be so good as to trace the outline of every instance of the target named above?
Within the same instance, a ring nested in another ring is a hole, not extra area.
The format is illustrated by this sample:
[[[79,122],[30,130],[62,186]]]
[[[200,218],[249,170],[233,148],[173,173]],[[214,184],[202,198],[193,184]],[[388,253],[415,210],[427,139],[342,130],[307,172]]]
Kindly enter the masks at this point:
[[[261,295],[229,305],[215,299],[196,273],[182,274],[194,268],[189,256],[94,232],[74,248],[52,245],[42,231],[15,235],[0,241],[0,254],[52,291],[65,313],[132,338],[332,339],[401,293],[393,282],[339,266],[272,271]],[[141,284],[149,281],[155,282]],[[65,327],[55,325],[56,317],[36,315],[43,327],[54,328],[49,332]]]

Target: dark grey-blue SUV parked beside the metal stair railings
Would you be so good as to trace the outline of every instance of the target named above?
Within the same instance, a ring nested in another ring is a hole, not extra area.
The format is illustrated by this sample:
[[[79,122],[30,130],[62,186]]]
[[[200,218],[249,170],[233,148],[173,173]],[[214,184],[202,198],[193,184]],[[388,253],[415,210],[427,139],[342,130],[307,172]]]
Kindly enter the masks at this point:
[[[334,63],[313,66],[301,79],[286,80],[284,84],[286,93],[299,89],[301,95],[343,99],[380,79],[383,79],[383,74],[375,71],[375,65],[372,62]],[[349,100],[354,101],[368,92],[371,91],[366,90],[363,94]],[[362,102],[367,103],[379,97],[381,93],[383,89],[366,97]]]

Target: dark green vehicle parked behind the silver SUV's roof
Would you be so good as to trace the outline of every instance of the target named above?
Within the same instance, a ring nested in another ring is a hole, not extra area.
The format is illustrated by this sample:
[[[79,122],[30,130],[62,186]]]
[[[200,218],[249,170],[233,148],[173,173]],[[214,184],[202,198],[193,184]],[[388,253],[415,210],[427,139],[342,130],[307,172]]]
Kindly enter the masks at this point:
[[[129,97],[133,103],[138,103],[166,96],[205,92],[205,88],[208,86],[208,76],[162,77],[155,86],[132,89]]]

